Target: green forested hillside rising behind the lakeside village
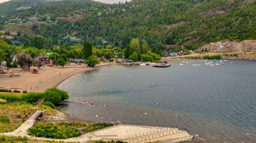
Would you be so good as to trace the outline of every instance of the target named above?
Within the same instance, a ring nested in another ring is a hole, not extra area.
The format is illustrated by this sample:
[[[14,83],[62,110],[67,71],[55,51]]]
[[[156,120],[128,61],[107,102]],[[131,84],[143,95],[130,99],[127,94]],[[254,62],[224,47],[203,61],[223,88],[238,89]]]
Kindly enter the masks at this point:
[[[150,47],[175,44],[186,49],[221,39],[256,39],[256,0],[136,0],[119,4],[28,0],[24,6],[19,1],[10,1],[15,6],[0,4],[0,28],[5,32],[0,35],[10,34],[6,33],[10,25],[32,23],[26,26],[31,33],[10,34],[11,40],[20,44],[31,35],[51,39],[55,45],[87,39],[94,45],[121,48],[133,38]]]

